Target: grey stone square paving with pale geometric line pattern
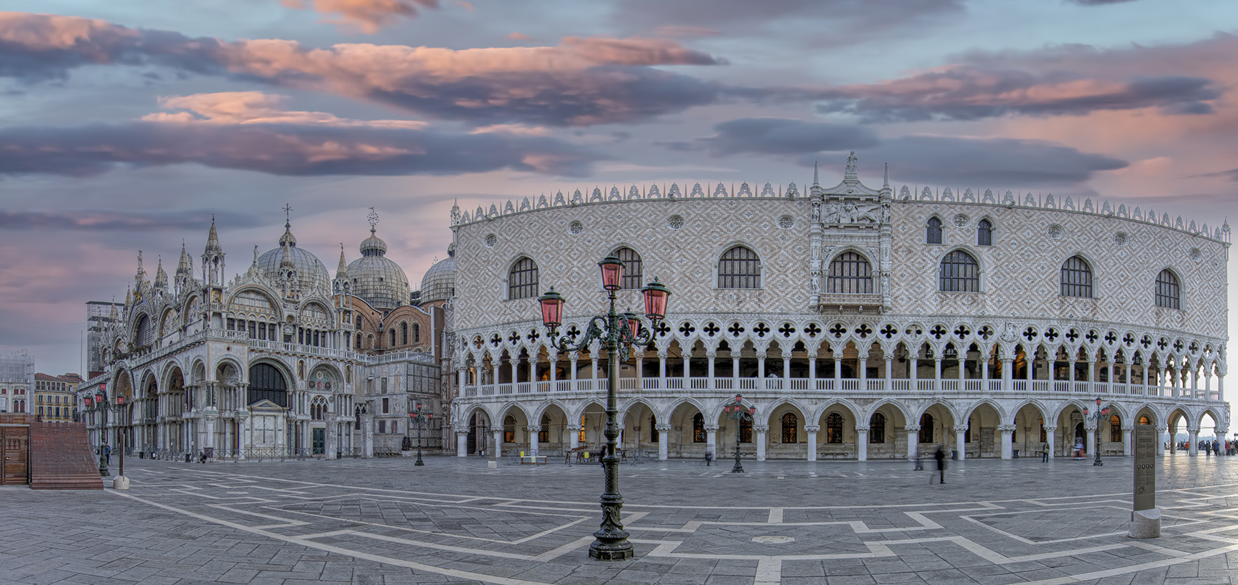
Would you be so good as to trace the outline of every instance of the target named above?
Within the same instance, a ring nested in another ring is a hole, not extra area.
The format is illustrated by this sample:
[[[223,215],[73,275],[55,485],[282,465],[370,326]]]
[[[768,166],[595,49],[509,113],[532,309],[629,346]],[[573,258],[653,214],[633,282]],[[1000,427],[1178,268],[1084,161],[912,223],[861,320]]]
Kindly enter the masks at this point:
[[[1238,456],[1160,460],[1151,540],[1130,459],[729,469],[624,464],[636,559],[598,563],[597,465],[130,459],[128,491],[0,489],[0,585],[1238,583]]]

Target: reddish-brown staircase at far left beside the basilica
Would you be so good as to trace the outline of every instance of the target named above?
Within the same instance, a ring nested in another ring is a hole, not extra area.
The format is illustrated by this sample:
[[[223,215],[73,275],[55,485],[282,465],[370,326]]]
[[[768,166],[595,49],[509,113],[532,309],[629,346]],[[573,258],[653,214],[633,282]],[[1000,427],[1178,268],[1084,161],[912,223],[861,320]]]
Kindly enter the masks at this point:
[[[85,424],[30,425],[30,487],[32,490],[102,490],[99,459]]]

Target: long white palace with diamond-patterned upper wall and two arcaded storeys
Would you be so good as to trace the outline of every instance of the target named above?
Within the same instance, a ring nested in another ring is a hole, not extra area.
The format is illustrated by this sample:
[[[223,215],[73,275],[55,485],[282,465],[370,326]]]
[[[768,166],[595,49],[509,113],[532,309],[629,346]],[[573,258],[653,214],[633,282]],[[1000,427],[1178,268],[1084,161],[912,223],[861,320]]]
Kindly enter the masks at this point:
[[[657,277],[665,324],[620,364],[620,446],[660,459],[1129,455],[1223,401],[1229,226],[1091,199],[865,186],[854,153],[823,187],[594,188],[452,210],[448,333],[457,455],[598,448],[607,364],[550,348],[604,310],[597,262],[625,265],[620,307]],[[751,423],[722,412],[737,393]],[[1172,445],[1166,446],[1172,449]]]

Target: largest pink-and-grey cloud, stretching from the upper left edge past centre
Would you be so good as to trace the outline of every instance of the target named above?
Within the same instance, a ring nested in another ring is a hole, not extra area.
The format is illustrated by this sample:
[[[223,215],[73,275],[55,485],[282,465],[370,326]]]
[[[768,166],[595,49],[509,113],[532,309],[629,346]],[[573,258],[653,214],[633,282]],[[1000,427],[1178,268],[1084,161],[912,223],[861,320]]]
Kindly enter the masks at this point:
[[[718,100],[718,89],[654,66],[722,61],[656,38],[567,37],[555,47],[453,51],[402,45],[223,42],[71,16],[0,14],[0,75],[62,79],[87,66],[162,66],[364,98],[478,125],[584,126],[645,120]]]

